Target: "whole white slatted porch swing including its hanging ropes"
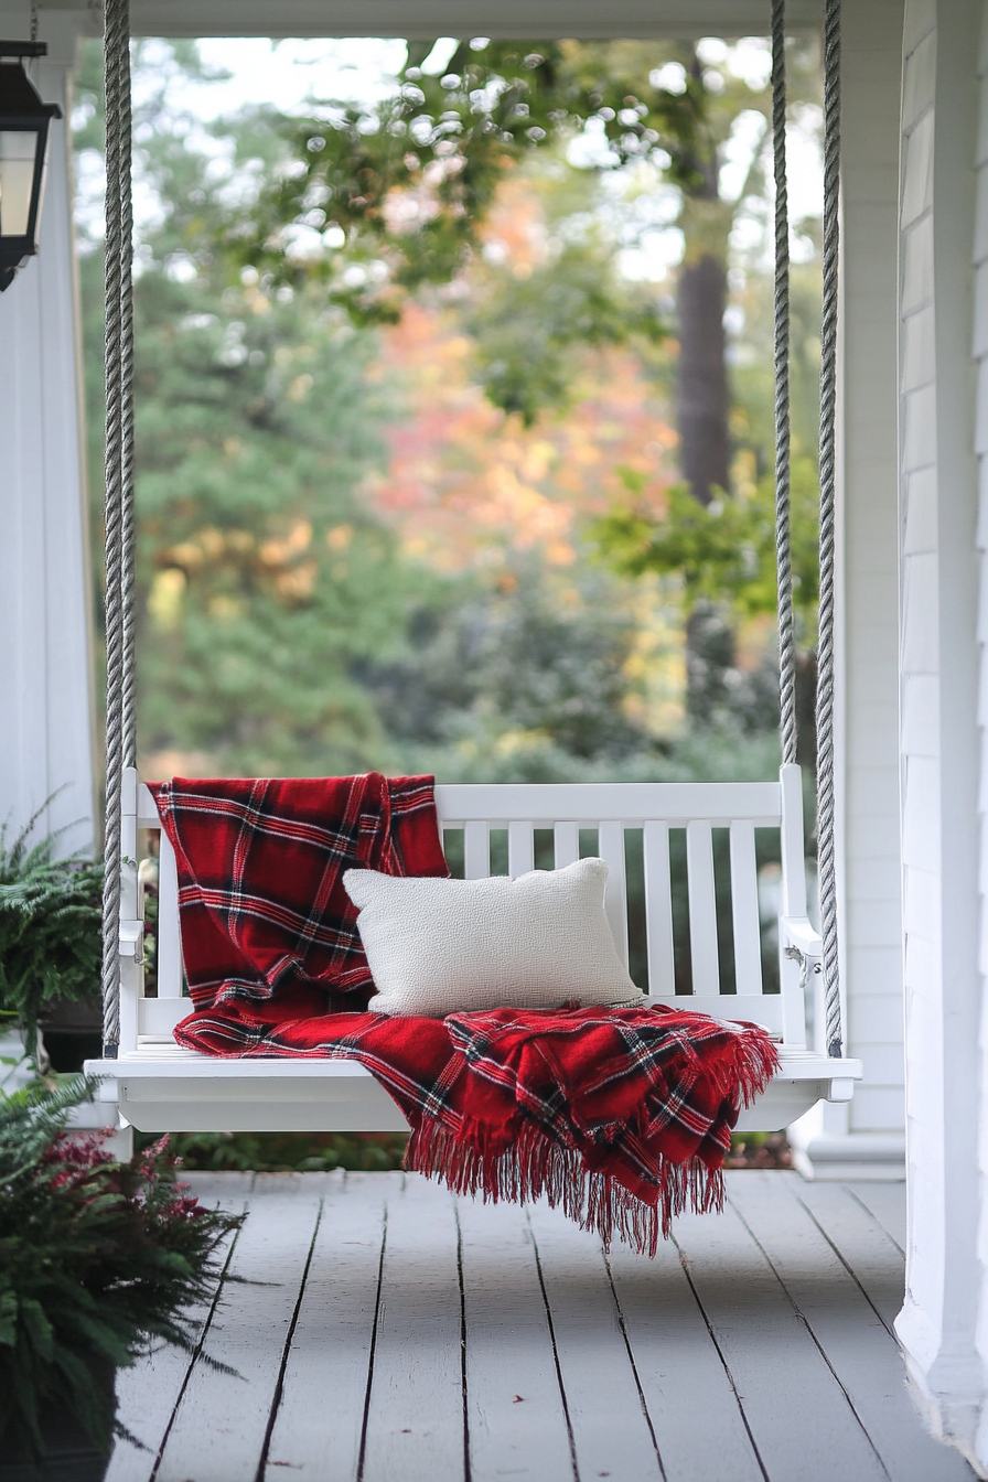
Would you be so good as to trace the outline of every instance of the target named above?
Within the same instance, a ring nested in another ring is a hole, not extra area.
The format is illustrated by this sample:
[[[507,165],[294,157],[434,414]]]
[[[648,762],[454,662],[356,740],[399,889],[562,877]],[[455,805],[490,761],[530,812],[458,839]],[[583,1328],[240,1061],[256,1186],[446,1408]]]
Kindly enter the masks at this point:
[[[775,145],[776,560],[782,766],[778,782],[588,782],[437,785],[440,837],[462,836],[468,880],[492,874],[492,831],[507,831],[508,873],[535,867],[536,830],[550,830],[554,868],[581,857],[595,830],[609,865],[606,910],[628,963],[625,834],[644,858],[644,1003],[763,1024],[779,1069],[742,1110],[738,1129],[779,1131],[818,1101],[850,1101],[859,1060],[841,1055],[834,851],[834,511],[840,160],[840,0],[825,6],[824,314],[821,363],[821,597],[818,668],[818,839],[822,935],[807,917],[801,774],[795,762],[795,643],[790,562],[790,311],[785,175],[785,0],[772,0]],[[391,1132],[407,1123],[388,1092],[348,1060],[201,1055],[175,1043],[187,1017],[175,851],[138,777],[133,658],[133,326],[129,0],[105,4],[107,77],[107,823],[104,1055],[86,1070],[121,1125],[142,1132]],[[714,828],[729,831],[733,984],[717,943]],[[781,843],[779,991],[766,991],[755,828]],[[141,830],[158,833],[157,991],[145,993]],[[686,839],[689,980],[677,994],[670,831]],[[733,991],[730,988],[733,987]]]

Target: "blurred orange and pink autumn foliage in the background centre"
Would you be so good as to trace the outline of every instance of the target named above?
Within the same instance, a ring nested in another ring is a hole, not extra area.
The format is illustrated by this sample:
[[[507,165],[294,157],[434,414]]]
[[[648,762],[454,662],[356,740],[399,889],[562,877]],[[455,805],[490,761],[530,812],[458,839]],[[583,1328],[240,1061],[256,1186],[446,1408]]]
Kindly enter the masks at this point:
[[[675,434],[631,353],[588,354],[570,411],[530,428],[490,405],[471,354],[441,308],[412,304],[385,336],[379,373],[404,385],[407,418],[367,492],[409,556],[450,574],[505,568],[513,553],[570,566],[628,470],[661,513]]]

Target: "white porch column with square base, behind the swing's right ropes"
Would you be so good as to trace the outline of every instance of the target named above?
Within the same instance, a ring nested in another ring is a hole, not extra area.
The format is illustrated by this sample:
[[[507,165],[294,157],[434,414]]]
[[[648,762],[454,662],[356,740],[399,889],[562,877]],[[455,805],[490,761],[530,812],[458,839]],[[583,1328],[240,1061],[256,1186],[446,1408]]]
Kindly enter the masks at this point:
[[[837,778],[850,1106],[790,1129],[810,1178],[904,1178],[898,697],[898,231],[904,0],[843,13]]]

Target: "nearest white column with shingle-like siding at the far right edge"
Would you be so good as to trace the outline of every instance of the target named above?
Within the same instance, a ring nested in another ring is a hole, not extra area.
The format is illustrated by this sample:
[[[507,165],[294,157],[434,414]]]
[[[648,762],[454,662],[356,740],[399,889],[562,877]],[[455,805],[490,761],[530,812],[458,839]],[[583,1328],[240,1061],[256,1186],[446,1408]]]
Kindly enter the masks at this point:
[[[981,16],[982,0],[907,0],[901,744],[909,1220],[907,1300],[896,1331],[935,1432],[975,1464],[981,1451],[988,1469],[988,1446],[976,1439],[985,1402],[978,1352],[979,1307],[982,1329],[985,1322],[978,814],[985,794],[982,780],[979,802],[972,359],[972,348],[988,348],[984,304],[972,345]],[[984,80],[982,95],[988,101]],[[979,157],[985,153],[982,145]],[[987,219],[979,212],[979,258],[988,253]],[[988,448],[984,385],[982,370],[978,448]],[[984,879],[982,868],[982,891]]]

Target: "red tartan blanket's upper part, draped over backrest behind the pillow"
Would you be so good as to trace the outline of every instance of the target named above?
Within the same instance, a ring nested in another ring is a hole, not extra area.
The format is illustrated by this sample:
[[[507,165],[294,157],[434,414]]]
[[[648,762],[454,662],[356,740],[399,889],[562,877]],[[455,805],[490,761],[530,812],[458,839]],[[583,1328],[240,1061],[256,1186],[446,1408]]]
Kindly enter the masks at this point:
[[[299,1014],[373,993],[344,870],[446,876],[431,777],[154,784],[175,848],[196,1008],[273,994]]]

